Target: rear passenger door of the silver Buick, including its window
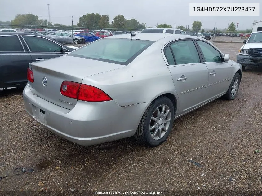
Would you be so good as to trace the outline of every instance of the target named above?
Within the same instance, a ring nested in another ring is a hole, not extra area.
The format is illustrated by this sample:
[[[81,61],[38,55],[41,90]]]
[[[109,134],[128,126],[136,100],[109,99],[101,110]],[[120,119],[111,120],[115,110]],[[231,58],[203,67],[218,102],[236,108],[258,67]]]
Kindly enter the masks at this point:
[[[166,47],[165,55],[179,98],[179,116],[206,102],[208,70],[201,62],[193,40],[171,43]]]

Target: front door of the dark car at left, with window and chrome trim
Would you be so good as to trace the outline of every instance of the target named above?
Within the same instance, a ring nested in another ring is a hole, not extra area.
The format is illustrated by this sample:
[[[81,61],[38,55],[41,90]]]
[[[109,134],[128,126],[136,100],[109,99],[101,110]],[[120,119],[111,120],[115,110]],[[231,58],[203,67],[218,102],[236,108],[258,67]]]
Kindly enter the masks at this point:
[[[68,52],[62,52],[62,46],[44,37],[23,35],[23,40],[28,47],[33,62],[63,56]]]

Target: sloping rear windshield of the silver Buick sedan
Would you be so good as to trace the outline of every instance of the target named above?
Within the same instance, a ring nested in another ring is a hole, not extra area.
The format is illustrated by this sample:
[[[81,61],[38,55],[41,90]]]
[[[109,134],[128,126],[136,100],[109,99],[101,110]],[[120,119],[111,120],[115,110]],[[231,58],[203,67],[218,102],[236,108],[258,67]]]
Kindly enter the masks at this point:
[[[68,56],[127,65],[154,41],[107,38],[100,39],[68,54]]]

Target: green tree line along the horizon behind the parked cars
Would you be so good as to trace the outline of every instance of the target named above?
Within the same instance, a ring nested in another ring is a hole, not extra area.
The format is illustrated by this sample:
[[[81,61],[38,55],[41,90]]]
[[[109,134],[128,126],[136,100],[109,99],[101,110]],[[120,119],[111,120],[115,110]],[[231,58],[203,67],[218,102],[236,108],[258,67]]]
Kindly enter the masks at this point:
[[[63,29],[71,28],[71,25],[63,25],[59,23],[52,24],[51,22],[47,21],[46,19],[39,19],[37,15],[34,14],[17,14],[14,18],[14,20],[2,22],[0,21],[0,24],[3,25],[28,25],[31,28],[33,26],[48,26],[48,27],[60,27],[57,29]],[[73,25],[75,28],[110,28],[110,29],[144,29],[144,28],[152,28],[152,27],[146,27],[146,23],[140,23],[136,19],[126,19],[124,15],[117,15],[113,18],[112,22],[109,21],[109,15],[100,15],[99,13],[87,13],[86,15],[83,15],[79,18],[79,21],[77,25]],[[181,29],[183,31],[194,31],[194,32],[205,32],[205,30],[202,28],[201,21],[194,21],[192,23],[192,28],[189,28],[189,26],[184,27],[183,25],[179,26],[172,26],[169,24],[159,24],[157,25],[157,28],[177,28]],[[21,28],[19,26],[15,26],[14,28]],[[212,30],[209,30],[209,32],[212,32]],[[227,29],[223,29],[222,31],[226,32],[236,32],[236,24],[231,23]],[[222,32],[221,30],[217,30],[217,32]],[[243,30],[239,30],[243,31]],[[251,29],[246,29],[246,32],[252,31]]]

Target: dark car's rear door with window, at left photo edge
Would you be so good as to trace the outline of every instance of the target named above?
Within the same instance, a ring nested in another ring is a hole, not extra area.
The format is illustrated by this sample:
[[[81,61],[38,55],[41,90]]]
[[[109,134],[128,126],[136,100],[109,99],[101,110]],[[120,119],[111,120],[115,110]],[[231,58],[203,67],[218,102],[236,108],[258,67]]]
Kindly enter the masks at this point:
[[[0,36],[0,85],[26,84],[29,63],[31,56],[18,35]]]

